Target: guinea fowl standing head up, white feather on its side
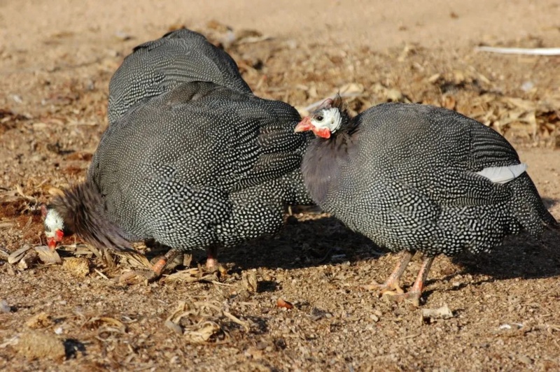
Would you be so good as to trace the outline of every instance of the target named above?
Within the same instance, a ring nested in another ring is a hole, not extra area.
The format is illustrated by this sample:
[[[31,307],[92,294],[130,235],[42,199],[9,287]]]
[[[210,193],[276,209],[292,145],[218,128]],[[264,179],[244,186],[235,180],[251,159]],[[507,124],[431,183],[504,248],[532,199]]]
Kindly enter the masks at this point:
[[[313,131],[302,161],[311,198],[346,226],[403,257],[380,294],[419,305],[436,255],[489,252],[521,228],[559,228],[503,136],[444,108],[384,103],[356,117],[337,96],[297,124]],[[399,281],[424,255],[407,293]]]

